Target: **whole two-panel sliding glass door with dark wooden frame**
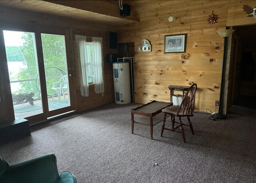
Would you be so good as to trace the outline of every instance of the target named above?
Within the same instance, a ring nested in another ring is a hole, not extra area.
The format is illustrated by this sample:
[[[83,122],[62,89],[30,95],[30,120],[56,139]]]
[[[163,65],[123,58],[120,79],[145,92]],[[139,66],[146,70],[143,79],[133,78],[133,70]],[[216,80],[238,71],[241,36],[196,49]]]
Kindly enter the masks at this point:
[[[5,27],[2,32],[15,117],[34,123],[73,111],[68,30],[10,23],[1,26]]]

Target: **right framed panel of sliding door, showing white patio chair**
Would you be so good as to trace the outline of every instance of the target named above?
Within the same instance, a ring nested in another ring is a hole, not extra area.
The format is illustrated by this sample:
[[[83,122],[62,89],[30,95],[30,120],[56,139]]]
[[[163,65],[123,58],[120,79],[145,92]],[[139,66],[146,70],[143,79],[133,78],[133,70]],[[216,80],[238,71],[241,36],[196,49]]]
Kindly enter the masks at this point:
[[[74,110],[68,30],[39,26],[48,117]]]

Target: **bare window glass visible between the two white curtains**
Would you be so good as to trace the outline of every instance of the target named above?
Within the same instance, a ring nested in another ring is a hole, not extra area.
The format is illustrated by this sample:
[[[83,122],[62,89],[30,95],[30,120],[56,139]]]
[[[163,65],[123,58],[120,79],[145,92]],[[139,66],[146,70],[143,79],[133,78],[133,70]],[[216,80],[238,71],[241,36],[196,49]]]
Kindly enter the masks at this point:
[[[95,63],[94,63],[94,55],[93,55],[93,46],[92,42],[86,42],[85,46],[86,52],[86,72],[88,77],[92,77],[92,82],[95,83]]]

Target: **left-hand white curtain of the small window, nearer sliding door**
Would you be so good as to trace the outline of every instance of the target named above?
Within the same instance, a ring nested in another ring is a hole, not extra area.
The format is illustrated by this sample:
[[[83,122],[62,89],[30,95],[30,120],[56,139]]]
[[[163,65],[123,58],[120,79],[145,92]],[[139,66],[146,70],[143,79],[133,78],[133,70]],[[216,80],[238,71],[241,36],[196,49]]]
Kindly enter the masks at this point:
[[[77,64],[78,64],[78,75],[80,81],[80,91],[83,97],[89,96],[89,84],[88,76],[86,73],[86,36],[76,35],[76,49],[77,49]]]

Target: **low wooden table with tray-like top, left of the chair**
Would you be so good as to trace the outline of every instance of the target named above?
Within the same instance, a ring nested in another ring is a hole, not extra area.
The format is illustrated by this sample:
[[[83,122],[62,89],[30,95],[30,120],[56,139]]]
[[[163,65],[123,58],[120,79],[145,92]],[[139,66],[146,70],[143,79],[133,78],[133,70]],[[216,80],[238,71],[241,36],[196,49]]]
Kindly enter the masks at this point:
[[[153,139],[153,126],[164,119],[164,113],[162,112],[162,109],[164,109],[165,107],[169,107],[171,105],[172,103],[153,100],[152,102],[146,103],[140,107],[131,109],[132,134],[134,123],[141,123],[143,125],[150,126],[150,137],[151,139]],[[142,116],[139,117],[139,119],[137,119],[136,121],[134,121],[134,114]]]

